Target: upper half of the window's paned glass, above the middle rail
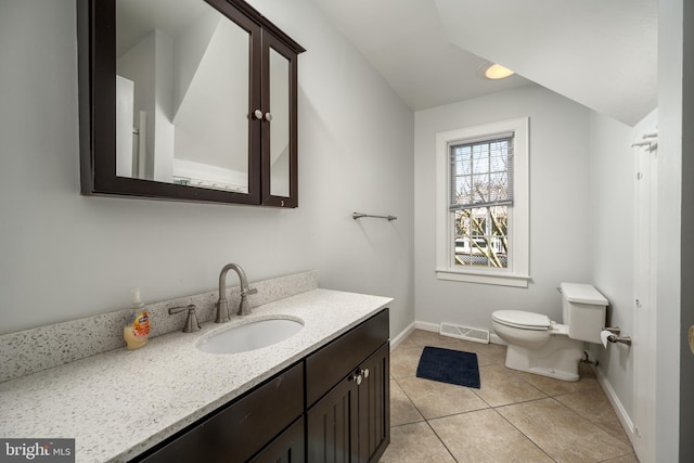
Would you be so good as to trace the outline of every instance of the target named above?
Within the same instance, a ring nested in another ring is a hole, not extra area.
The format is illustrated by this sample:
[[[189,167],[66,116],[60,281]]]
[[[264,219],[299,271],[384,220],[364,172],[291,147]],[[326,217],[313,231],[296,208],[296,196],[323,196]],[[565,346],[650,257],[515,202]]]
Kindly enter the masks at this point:
[[[449,145],[450,210],[513,204],[513,132]]]

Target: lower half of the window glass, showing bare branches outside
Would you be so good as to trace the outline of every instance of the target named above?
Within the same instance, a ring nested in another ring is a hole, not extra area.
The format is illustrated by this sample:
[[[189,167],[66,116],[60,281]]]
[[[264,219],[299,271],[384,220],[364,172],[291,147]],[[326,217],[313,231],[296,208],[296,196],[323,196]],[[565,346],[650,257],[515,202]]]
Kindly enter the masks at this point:
[[[507,268],[507,206],[477,207],[453,214],[455,266]]]

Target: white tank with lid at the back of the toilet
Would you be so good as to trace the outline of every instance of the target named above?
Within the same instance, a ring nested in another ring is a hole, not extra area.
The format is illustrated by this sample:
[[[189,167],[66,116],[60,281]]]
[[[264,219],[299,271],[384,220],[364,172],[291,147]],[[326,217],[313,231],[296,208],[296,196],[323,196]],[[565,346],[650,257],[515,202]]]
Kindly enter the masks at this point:
[[[562,283],[562,314],[568,337],[600,344],[607,299],[590,284]]]

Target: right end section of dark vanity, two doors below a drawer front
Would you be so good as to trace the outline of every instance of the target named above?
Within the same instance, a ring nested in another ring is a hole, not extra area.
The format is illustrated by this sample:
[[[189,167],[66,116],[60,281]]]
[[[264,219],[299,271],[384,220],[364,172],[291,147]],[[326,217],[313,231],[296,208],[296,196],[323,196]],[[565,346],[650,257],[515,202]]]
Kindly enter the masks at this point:
[[[389,352],[384,310],[307,358],[308,463],[378,461],[390,441]]]

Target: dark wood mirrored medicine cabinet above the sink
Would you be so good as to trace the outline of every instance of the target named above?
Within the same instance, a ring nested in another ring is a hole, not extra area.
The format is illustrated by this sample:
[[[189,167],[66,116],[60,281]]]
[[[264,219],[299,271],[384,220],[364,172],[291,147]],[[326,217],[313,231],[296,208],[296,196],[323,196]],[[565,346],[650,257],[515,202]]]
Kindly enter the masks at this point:
[[[297,56],[242,0],[77,0],[81,192],[297,207]]]

